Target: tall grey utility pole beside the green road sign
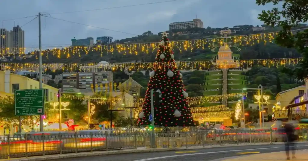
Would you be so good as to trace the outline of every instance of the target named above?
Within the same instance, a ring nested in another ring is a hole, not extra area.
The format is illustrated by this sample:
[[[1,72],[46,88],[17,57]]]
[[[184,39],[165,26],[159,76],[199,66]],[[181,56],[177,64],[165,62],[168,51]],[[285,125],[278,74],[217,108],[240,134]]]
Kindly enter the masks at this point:
[[[42,65],[42,40],[41,40],[41,13],[39,12],[39,88],[40,89],[43,89],[43,71],[42,71],[42,68],[43,68],[43,65]],[[60,104],[61,105],[61,104]],[[43,108],[44,108],[44,105],[43,105]],[[43,132],[44,131],[44,115],[40,115],[39,117],[39,130],[40,132]]]

